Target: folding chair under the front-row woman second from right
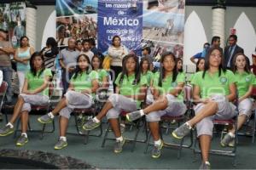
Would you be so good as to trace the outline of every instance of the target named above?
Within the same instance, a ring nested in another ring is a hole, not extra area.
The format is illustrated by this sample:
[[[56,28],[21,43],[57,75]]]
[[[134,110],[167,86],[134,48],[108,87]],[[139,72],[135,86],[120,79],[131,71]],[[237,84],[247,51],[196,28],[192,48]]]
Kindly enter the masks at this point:
[[[184,115],[182,116],[162,116],[161,120],[159,122],[159,126],[160,126],[160,139],[162,139],[164,141],[164,145],[163,147],[165,148],[170,148],[170,149],[177,149],[177,159],[180,158],[181,156],[181,151],[183,148],[190,148],[193,145],[193,132],[190,132],[190,143],[189,144],[183,144],[184,142],[184,138],[181,139],[180,141],[178,141],[177,143],[167,143],[164,139],[163,139],[163,133],[162,133],[162,129],[166,128],[166,132],[169,132],[169,130],[174,130],[175,128],[180,126],[181,122],[185,122],[187,120],[189,120],[189,117],[193,116],[194,112],[192,109],[192,102],[191,102],[191,96],[192,96],[192,87],[189,85],[185,85],[184,87],[184,102],[187,106],[187,111]],[[164,124],[167,123],[167,127],[164,126]],[[177,127],[173,127],[172,124],[176,124]],[[153,143],[150,143],[150,138],[151,138],[152,134],[149,131],[148,132],[148,141],[146,144],[146,149],[144,151],[144,153],[148,152],[148,146],[149,145],[154,145]]]

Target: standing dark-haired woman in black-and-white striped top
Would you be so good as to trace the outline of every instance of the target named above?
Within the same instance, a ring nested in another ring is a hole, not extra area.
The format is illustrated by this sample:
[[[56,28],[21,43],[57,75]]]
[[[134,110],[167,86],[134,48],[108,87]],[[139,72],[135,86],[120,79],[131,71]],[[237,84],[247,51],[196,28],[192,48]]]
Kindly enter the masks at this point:
[[[44,55],[44,66],[51,70],[52,73],[55,71],[55,58],[59,54],[58,44],[54,37],[49,37],[46,40],[46,47],[41,50]],[[54,74],[53,74],[54,75]]]

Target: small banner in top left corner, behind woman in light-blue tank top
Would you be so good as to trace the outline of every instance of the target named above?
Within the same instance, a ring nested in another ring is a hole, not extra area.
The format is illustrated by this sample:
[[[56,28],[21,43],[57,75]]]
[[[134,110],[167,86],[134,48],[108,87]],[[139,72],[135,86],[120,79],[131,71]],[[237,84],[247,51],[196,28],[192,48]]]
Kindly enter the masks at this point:
[[[26,3],[0,4],[0,29],[9,31],[9,41],[15,48],[20,46],[20,37],[26,35]]]

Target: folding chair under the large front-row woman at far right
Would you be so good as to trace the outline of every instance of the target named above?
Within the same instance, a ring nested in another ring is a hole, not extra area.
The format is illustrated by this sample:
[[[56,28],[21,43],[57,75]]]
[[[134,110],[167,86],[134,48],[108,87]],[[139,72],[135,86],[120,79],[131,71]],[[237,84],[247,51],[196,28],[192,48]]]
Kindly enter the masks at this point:
[[[228,120],[213,120],[213,125],[223,125],[223,126],[235,126],[235,141],[237,141],[237,135],[238,135],[238,132],[237,132],[237,118],[238,118],[238,102],[237,102],[237,99],[238,97],[236,96],[236,116],[231,118],[231,119],[228,119]],[[212,139],[213,139],[213,135],[212,135]],[[196,149],[196,143],[197,143],[197,137],[196,137],[196,132],[195,132],[195,147],[194,147],[194,154],[196,153],[200,153],[201,154],[201,150],[200,149]],[[199,140],[198,140],[198,145],[200,147],[200,144],[199,144]],[[218,156],[230,156],[230,157],[233,157],[233,166],[236,166],[236,147],[237,147],[237,143],[235,142],[235,145],[234,147],[232,148],[232,150],[214,150],[214,149],[211,149],[209,150],[209,154],[212,154],[212,155],[218,155]]]

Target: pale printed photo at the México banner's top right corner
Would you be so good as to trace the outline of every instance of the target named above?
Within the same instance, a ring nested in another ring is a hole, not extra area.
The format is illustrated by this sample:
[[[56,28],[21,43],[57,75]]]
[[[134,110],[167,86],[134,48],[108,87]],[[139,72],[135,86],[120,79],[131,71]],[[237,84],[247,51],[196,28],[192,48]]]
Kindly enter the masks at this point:
[[[185,0],[150,0],[148,1],[148,10],[159,11],[163,13],[183,14]]]

